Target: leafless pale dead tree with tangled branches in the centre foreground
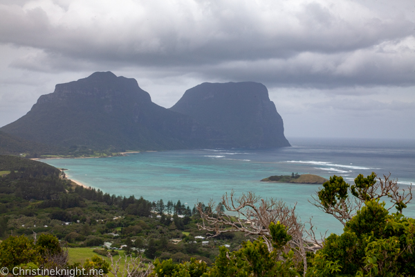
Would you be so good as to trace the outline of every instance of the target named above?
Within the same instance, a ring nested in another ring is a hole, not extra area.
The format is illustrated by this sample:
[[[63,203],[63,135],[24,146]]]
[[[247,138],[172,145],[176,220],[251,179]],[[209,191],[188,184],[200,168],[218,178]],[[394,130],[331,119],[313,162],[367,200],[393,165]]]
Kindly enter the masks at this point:
[[[227,215],[226,211],[234,213]],[[196,206],[202,219],[198,224],[199,230],[208,231],[208,235],[216,236],[221,233],[243,232],[245,235],[259,235],[264,238],[268,251],[273,251],[273,243],[270,239],[269,225],[271,222],[280,222],[288,228],[288,235],[292,240],[288,242],[284,251],[290,249],[295,251],[297,261],[304,262],[304,276],[307,271],[306,251],[313,251],[311,247],[304,242],[304,224],[295,214],[295,206],[289,207],[282,201],[273,198],[261,199],[255,193],[243,193],[240,197],[235,197],[234,190],[228,196],[223,195],[219,205],[211,200],[208,206],[199,204]]]

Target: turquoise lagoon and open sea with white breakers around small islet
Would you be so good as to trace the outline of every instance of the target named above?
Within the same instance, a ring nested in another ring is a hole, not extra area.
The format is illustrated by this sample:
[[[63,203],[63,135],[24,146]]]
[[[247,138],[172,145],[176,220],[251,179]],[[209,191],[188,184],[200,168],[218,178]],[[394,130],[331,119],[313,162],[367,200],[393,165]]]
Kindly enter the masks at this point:
[[[141,152],[104,159],[47,159],[68,168],[71,179],[104,193],[135,195],[150,201],[163,199],[187,203],[219,202],[231,190],[253,191],[263,198],[275,197],[288,205],[297,203],[303,222],[313,217],[319,231],[341,233],[342,225],[319,211],[308,200],[320,185],[266,183],[270,175],[311,173],[329,179],[340,175],[347,181],[360,173],[389,174],[402,188],[415,184],[415,141],[290,139],[293,147],[273,149],[199,149]],[[414,202],[406,215],[415,216]]]

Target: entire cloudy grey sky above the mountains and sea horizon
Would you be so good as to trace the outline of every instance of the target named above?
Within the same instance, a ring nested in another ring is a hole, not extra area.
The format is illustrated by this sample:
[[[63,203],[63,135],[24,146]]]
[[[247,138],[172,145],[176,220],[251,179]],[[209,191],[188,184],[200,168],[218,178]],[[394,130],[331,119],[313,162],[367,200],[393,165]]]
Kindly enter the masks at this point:
[[[415,137],[415,2],[0,0],[0,126],[55,84],[261,82],[288,137]]]

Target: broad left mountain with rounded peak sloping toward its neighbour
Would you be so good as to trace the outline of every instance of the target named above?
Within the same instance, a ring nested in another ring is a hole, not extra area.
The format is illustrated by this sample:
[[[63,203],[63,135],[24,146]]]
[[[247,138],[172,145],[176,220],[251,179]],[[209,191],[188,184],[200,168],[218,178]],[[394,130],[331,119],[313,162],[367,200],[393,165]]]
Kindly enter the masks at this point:
[[[203,128],[190,116],[156,105],[135,79],[111,72],[57,84],[1,131],[39,143],[116,151],[192,148],[203,141]]]

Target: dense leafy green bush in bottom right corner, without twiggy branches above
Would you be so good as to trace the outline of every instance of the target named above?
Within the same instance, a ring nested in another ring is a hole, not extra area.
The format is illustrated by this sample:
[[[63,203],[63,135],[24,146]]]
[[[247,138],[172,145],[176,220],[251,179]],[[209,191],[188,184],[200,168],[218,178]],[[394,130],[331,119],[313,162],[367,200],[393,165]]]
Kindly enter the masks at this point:
[[[317,252],[309,276],[415,276],[415,220],[366,202]],[[327,267],[327,265],[330,265]]]

